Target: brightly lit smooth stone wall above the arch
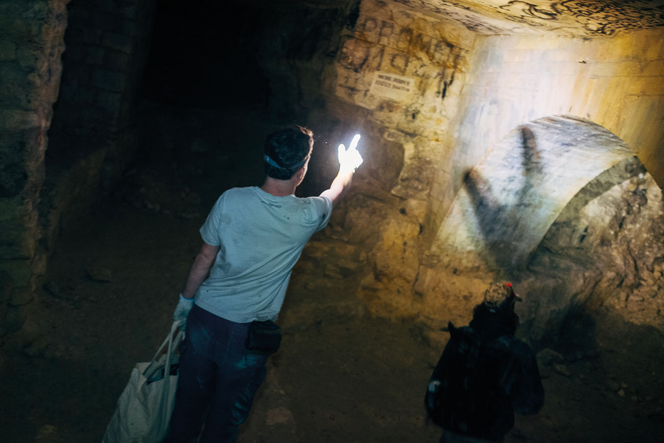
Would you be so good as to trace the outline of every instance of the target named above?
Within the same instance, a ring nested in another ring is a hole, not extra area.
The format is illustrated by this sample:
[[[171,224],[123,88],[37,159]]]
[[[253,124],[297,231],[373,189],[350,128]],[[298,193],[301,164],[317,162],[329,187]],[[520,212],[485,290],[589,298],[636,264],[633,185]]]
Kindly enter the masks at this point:
[[[569,114],[600,124],[664,184],[664,31],[612,38],[482,37],[463,86],[453,167],[441,164],[432,193],[438,226],[463,171],[520,124]]]

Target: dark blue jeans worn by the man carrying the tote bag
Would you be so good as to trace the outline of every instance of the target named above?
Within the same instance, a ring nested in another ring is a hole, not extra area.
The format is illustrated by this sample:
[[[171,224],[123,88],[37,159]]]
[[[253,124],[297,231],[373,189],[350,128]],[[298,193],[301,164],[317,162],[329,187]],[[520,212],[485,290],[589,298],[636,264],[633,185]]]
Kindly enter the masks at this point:
[[[244,347],[249,324],[191,308],[179,347],[175,408],[165,442],[196,442],[201,427],[201,443],[235,441],[265,379],[268,361]]]

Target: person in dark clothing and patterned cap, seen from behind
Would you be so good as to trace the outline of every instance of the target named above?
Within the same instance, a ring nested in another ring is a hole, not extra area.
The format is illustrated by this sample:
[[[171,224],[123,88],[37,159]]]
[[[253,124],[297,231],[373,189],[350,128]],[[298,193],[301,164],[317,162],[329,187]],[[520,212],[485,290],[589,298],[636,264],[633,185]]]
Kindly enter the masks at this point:
[[[494,283],[475,306],[468,326],[450,322],[446,345],[424,397],[440,443],[502,442],[514,412],[535,414],[544,404],[535,354],[515,338],[522,301],[512,285]]]

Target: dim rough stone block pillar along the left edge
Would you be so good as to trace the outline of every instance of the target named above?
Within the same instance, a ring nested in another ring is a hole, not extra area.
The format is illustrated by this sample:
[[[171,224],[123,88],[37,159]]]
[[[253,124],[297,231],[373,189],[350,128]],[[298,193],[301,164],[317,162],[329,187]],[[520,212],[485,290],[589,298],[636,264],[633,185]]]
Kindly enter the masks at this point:
[[[0,339],[33,299],[46,135],[58,97],[65,0],[0,1]]]

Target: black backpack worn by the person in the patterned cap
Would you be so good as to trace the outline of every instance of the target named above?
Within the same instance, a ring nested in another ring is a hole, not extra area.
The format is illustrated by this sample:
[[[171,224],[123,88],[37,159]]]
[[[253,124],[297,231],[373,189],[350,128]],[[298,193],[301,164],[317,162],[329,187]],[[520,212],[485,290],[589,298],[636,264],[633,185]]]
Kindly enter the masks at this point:
[[[428,415],[457,434],[499,440],[514,426],[512,402],[501,386],[512,355],[503,341],[470,327],[450,323],[449,330],[452,349],[432,375],[425,397]]]

